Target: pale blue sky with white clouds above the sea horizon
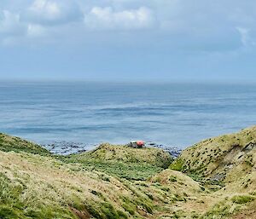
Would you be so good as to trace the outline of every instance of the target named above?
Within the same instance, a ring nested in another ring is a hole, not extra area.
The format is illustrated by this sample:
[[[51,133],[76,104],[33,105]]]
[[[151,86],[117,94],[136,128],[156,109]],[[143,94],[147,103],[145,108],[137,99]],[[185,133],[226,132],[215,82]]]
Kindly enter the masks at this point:
[[[0,79],[256,81],[255,0],[1,0]]]

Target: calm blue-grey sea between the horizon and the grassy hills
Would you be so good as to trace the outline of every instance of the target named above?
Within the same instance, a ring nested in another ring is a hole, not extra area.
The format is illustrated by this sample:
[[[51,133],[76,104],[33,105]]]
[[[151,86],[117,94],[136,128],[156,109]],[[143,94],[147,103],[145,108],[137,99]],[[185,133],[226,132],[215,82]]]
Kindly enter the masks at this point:
[[[38,143],[187,147],[256,124],[253,84],[0,82],[0,131]]]

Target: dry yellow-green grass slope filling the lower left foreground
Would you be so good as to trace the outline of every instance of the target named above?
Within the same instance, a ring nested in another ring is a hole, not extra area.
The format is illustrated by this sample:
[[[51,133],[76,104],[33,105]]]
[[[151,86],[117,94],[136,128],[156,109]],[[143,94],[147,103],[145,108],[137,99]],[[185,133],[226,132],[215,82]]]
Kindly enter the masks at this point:
[[[130,182],[55,158],[0,156],[0,218],[77,218],[73,210],[95,218],[142,218],[137,206],[152,212],[152,200]]]

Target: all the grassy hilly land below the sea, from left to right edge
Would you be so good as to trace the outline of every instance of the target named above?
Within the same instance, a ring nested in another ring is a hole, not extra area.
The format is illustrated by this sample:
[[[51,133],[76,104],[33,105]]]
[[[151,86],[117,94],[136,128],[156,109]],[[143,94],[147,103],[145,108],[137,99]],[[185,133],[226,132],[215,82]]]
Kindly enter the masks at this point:
[[[0,218],[255,218],[255,142],[253,127],[173,161],[157,148],[110,144],[56,156],[1,134]]]

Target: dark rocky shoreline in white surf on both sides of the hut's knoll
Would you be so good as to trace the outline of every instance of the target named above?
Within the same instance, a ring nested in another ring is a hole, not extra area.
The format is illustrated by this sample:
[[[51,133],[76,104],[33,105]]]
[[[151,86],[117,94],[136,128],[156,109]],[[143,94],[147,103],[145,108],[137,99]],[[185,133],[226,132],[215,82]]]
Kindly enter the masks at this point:
[[[44,144],[42,147],[49,150],[51,153],[59,154],[59,155],[69,155],[73,153],[83,153],[89,151],[93,148],[96,148],[98,145],[90,145],[73,141],[54,141],[52,143]],[[146,142],[145,147],[157,147],[163,149],[167,153],[170,153],[172,158],[177,158],[182,149],[177,147],[166,147],[161,144],[157,144],[154,142]]]

